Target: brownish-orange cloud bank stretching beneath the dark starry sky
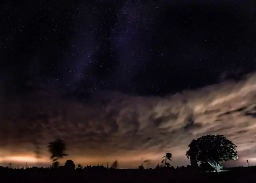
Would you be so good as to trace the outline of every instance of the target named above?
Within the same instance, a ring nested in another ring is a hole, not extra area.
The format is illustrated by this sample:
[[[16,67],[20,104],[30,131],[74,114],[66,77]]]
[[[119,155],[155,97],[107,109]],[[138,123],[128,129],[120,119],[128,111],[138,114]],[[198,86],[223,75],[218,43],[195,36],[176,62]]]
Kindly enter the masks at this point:
[[[172,164],[182,165],[192,139],[223,134],[238,146],[241,162],[250,160],[256,149],[255,81],[254,74],[165,97],[105,91],[84,102],[53,87],[20,96],[1,92],[0,156],[47,159],[47,143],[61,138],[77,163],[118,160],[137,167],[141,158],[152,163],[171,152]]]

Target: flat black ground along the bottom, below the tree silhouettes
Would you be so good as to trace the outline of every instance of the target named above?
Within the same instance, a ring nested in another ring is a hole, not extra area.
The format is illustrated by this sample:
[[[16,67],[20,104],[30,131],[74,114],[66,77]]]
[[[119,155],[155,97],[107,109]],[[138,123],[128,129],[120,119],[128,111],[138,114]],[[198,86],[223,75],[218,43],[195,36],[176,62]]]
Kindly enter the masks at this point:
[[[1,169],[2,183],[256,183],[255,168],[203,173],[191,170]]]

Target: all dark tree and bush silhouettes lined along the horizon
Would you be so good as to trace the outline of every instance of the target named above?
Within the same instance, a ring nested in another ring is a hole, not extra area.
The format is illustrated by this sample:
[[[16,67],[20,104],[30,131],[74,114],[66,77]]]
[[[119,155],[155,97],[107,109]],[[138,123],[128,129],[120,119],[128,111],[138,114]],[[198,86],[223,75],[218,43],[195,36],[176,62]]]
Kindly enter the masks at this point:
[[[52,141],[47,146],[50,153],[50,160],[52,165],[49,169],[66,169],[66,170],[83,170],[83,169],[96,169],[96,170],[105,170],[105,169],[118,169],[117,160],[114,161],[111,166],[108,166],[108,163],[103,166],[86,166],[83,167],[81,164],[75,166],[72,160],[66,160],[63,166],[59,165],[58,160],[68,155],[65,153],[66,144],[61,139],[56,139]],[[190,160],[190,165],[184,167],[177,167],[176,169],[171,166],[172,154],[166,153],[165,156],[161,157],[162,161],[160,165],[156,165],[155,169],[168,168],[172,170],[179,169],[190,169],[193,170],[203,170],[203,171],[223,171],[222,162],[235,161],[238,159],[236,146],[223,135],[205,135],[197,139],[193,139],[188,145],[188,151],[185,156]],[[148,163],[149,160],[145,160],[141,165],[138,166],[138,169],[143,170],[144,164]],[[199,164],[199,165],[198,165]],[[247,160],[247,165],[249,162]],[[11,163],[7,168],[13,168]]]

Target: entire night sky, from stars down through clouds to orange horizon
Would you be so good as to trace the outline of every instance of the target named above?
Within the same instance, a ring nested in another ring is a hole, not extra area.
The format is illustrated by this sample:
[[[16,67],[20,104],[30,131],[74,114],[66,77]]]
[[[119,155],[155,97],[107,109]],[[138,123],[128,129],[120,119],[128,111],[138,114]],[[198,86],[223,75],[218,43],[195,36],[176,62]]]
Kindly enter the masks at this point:
[[[0,162],[189,164],[189,142],[223,134],[256,164],[252,0],[0,2]],[[65,161],[65,159],[63,160]]]

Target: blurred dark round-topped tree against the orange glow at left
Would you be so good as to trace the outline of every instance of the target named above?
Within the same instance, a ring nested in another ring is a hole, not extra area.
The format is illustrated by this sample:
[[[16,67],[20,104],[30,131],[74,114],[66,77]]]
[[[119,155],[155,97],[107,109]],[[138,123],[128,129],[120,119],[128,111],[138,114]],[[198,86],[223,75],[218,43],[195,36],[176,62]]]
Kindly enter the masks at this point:
[[[66,145],[61,139],[56,139],[53,142],[50,142],[48,144],[48,151],[51,154],[50,159],[52,160],[53,167],[57,167],[58,158],[63,158],[63,156],[67,156],[67,154],[64,154],[64,151],[66,150]]]

